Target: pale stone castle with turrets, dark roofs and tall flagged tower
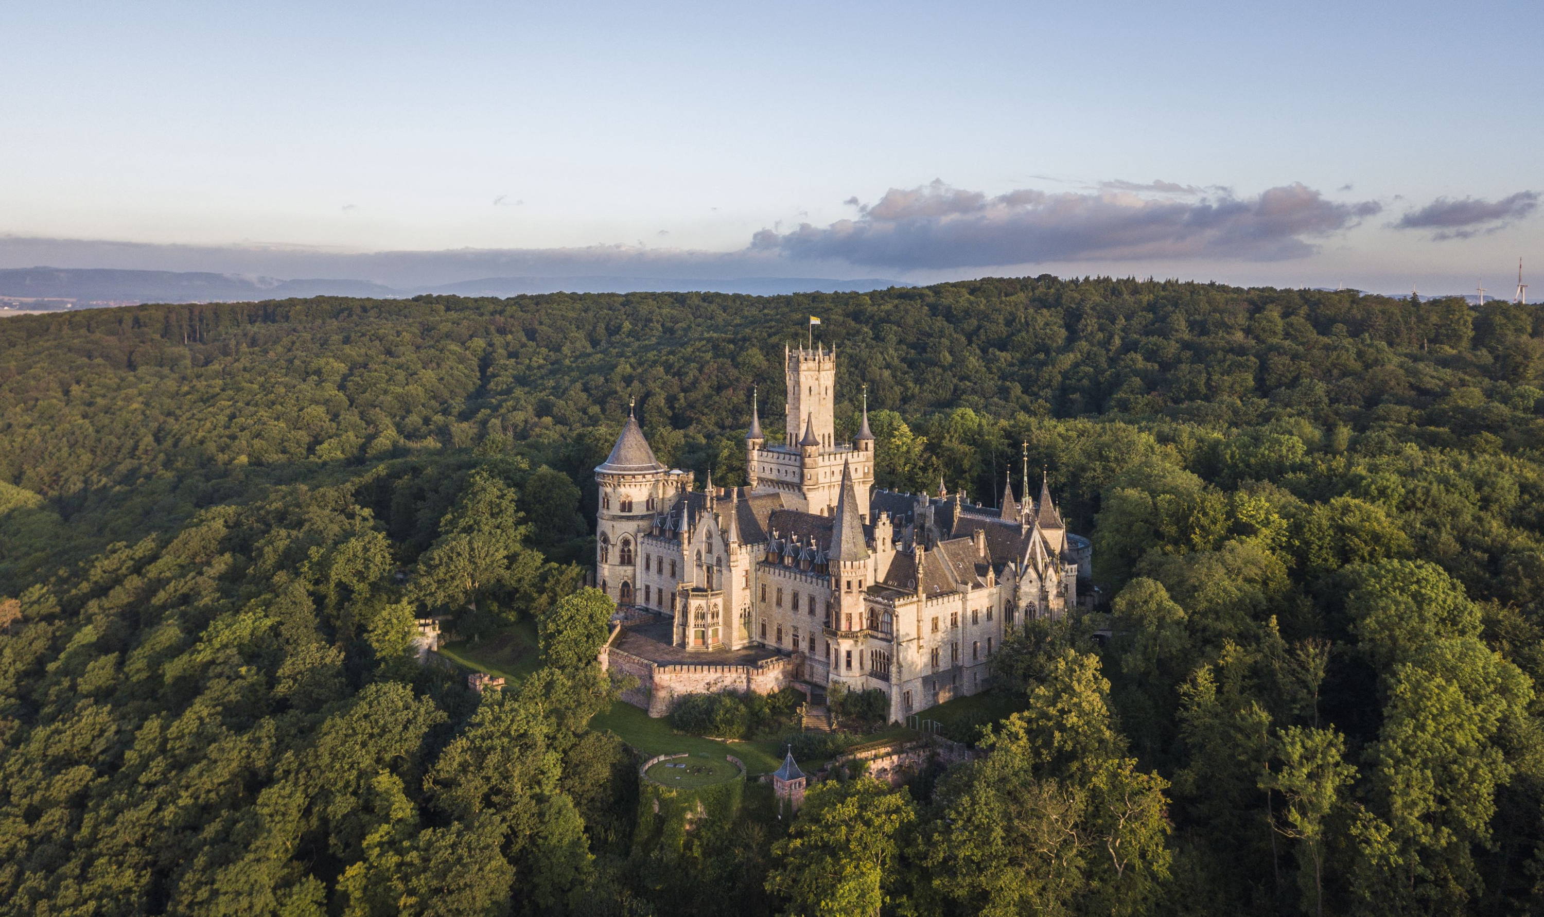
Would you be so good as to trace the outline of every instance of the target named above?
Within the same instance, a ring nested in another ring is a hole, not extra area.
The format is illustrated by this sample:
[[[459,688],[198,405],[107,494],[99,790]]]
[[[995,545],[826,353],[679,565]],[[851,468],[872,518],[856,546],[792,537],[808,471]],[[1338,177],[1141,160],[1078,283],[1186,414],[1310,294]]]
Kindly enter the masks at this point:
[[[1010,475],[996,508],[942,483],[934,497],[875,489],[866,403],[857,437],[835,440],[835,349],[791,349],[784,367],[787,435],[767,443],[752,401],[749,486],[709,475],[698,489],[655,458],[631,412],[594,469],[596,582],[633,619],[656,621],[653,644],[627,644],[652,675],[644,692],[763,690],[724,676],[758,662],[812,692],[879,689],[900,721],[985,689],[1016,622],[1076,604],[1089,540],[1067,531],[1044,480],[1028,500],[1027,468],[1024,502]],[[665,661],[721,678],[664,684]],[[669,704],[633,701],[653,715]]]

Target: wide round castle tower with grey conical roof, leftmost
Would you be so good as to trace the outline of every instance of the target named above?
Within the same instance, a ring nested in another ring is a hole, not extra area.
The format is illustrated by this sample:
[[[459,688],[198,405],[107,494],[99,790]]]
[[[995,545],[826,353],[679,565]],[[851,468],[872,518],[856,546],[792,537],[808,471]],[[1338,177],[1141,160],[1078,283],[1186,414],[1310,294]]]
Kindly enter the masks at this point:
[[[670,469],[655,458],[642,428],[628,404],[616,445],[605,462],[596,465],[601,513],[596,525],[596,585],[618,605],[638,602],[639,537],[648,531],[655,508],[678,485]]]

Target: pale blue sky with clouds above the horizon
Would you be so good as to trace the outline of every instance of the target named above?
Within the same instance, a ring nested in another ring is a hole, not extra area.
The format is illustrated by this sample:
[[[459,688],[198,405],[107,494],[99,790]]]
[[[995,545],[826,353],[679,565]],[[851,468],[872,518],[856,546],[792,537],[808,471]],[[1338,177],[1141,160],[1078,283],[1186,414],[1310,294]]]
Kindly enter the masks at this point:
[[[1541,34],[1522,2],[12,0],[0,267],[1496,289],[1544,267]],[[505,256],[349,258],[460,249]]]

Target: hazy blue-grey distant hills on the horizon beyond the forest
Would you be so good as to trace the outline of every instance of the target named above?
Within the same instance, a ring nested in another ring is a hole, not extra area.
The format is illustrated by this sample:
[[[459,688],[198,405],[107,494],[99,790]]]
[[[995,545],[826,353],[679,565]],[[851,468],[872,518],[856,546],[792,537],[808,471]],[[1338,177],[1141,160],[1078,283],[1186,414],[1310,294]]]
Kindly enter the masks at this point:
[[[906,287],[891,279],[829,278],[635,278],[635,276],[493,276],[418,289],[394,289],[361,279],[278,279],[238,273],[120,270],[82,267],[0,269],[0,299],[37,309],[128,306],[134,303],[238,303],[290,296],[403,298],[415,293],[517,296],[522,293],[713,292],[760,296],[851,293]]]

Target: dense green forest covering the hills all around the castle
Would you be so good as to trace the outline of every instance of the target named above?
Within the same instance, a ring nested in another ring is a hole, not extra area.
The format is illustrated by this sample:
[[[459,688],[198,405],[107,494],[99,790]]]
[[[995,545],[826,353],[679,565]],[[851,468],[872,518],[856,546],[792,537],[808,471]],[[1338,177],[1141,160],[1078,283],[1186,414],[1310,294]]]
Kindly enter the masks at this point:
[[[1102,605],[994,656],[971,763],[664,851],[590,469],[636,400],[743,482],[808,315],[883,486],[1027,443]],[[0,914],[1544,911],[1541,386],[1536,307],[1135,279],[6,320]],[[477,695],[426,614],[539,667]]]

